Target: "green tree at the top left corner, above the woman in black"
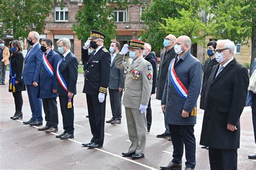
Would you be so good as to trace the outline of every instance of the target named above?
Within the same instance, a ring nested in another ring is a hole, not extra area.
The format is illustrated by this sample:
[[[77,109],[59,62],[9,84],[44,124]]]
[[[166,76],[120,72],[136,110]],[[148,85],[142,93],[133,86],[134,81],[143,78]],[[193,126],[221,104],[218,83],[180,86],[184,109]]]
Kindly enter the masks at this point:
[[[1,0],[0,34],[13,34],[15,39],[26,38],[30,31],[42,33],[45,19],[57,0]]]

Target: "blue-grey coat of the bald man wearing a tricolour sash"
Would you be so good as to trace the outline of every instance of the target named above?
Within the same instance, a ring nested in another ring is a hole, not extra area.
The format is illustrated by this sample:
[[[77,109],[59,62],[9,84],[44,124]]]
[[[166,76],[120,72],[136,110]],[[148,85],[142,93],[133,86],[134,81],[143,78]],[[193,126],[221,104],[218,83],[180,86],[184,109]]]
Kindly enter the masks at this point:
[[[177,56],[176,56],[177,57]],[[171,61],[170,67],[175,62],[175,58]],[[169,68],[170,68],[169,67]],[[197,99],[200,94],[201,82],[203,76],[203,65],[188,51],[179,62],[174,65],[177,77],[188,90],[187,99],[182,98],[174,88],[170,79],[170,69],[166,77],[164,94],[161,105],[165,106],[166,120],[172,125],[194,125],[196,124],[196,116],[191,116],[191,112],[197,105]],[[182,111],[189,112],[189,117],[181,117]]]

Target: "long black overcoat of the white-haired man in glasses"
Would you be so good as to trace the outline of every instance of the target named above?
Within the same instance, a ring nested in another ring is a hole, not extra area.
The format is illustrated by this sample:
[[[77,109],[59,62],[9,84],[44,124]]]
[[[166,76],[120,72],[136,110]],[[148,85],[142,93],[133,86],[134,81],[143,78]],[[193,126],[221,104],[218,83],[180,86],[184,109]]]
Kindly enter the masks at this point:
[[[237,149],[240,145],[240,115],[245,106],[249,84],[247,69],[235,59],[218,74],[219,65],[207,83],[205,112],[200,145]],[[227,124],[237,126],[236,131],[227,130]]]

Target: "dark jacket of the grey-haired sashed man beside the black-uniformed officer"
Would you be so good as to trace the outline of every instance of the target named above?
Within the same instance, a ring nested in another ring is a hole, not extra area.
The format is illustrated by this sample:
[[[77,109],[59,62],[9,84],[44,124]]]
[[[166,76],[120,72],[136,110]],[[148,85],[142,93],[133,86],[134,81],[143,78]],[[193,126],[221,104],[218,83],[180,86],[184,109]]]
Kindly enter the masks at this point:
[[[76,56],[69,52],[66,55],[65,60],[63,59],[59,64],[59,71],[62,77],[64,78],[66,85],[68,86],[68,91],[74,94],[77,93],[76,84],[77,84],[77,77],[78,77],[78,61]],[[68,92],[64,90],[62,85],[60,85],[59,81],[57,81],[57,91],[59,96],[68,96]]]

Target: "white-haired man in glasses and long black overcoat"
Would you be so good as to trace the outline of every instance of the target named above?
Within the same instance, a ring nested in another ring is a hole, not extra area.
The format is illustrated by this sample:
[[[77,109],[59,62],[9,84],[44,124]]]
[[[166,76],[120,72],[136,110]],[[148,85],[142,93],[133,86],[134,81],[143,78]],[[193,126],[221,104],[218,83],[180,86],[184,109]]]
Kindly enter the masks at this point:
[[[200,145],[209,147],[211,169],[237,169],[240,115],[249,84],[247,69],[234,59],[231,40],[218,40],[205,98]],[[217,140],[218,139],[218,140]]]

